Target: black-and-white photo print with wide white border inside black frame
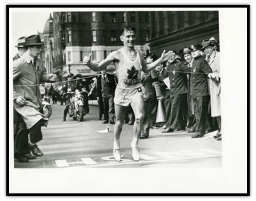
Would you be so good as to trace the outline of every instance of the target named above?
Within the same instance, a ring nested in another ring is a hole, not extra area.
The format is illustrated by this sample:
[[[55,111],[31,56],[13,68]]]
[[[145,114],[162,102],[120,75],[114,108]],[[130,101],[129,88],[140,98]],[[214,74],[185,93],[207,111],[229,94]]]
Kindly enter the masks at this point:
[[[223,40],[228,10],[7,9],[10,193],[246,193],[246,158],[233,178],[231,150],[224,151],[238,118],[230,119],[227,105],[234,105],[225,99],[236,91],[226,65],[235,47]],[[246,34],[247,8],[234,9]],[[246,155],[247,139],[236,140]],[[53,184],[31,191],[15,183],[26,173],[74,186],[94,179],[85,184],[91,190]],[[218,176],[227,190],[216,185]],[[127,177],[163,189],[93,189],[96,181]],[[174,179],[169,187],[161,182],[167,178]],[[178,178],[190,189],[179,189]]]

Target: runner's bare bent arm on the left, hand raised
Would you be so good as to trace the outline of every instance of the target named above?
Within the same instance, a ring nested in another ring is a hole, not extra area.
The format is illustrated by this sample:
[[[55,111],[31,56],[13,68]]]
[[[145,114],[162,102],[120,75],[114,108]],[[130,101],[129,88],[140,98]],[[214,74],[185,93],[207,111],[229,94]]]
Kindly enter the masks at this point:
[[[107,67],[109,64],[111,64],[111,62],[115,61],[116,55],[117,55],[117,51],[113,51],[106,57],[106,59],[102,60],[99,63],[94,63],[91,60],[92,55],[90,54],[88,57],[85,56],[83,58],[83,64],[86,64],[93,71],[100,71],[100,70],[104,69],[105,67]]]

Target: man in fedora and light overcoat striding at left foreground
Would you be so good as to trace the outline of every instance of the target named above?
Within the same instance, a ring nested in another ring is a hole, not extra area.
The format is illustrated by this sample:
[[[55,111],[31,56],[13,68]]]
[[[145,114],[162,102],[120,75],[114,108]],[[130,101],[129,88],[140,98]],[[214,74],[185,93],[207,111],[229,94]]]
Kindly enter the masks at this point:
[[[41,82],[55,82],[56,79],[56,75],[47,74],[42,60],[38,58],[43,44],[39,35],[26,37],[25,42],[26,53],[13,62],[13,85],[16,92],[13,105],[22,116],[19,132],[15,137],[14,157],[21,162],[29,161],[22,155],[22,149],[28,141],[28,134],[31,141],[29,150],[34,155],[43,155],[36,143],[42,140],[41,126],[47,126],[48,119],[42,114],[42,96],[39,86]]]

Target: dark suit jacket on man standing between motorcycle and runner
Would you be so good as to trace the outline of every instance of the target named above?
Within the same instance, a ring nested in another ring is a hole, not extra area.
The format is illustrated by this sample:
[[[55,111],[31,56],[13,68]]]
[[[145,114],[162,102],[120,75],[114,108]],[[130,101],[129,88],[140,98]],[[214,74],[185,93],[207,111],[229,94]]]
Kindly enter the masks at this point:
[[[103,98],[110,98],[115,94],[115,79],[114,76],[106,73],[106,79],[102,76],[97,77],[97,97],[100,95]]]

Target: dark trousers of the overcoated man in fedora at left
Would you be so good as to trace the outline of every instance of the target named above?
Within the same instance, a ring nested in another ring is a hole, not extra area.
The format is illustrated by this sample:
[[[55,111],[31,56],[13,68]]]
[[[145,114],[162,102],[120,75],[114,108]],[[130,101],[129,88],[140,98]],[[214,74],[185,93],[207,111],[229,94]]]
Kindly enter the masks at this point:
[[[41,126],[42,126],[42,120],[38,121],[38,123],[35,123],[35,125],[33,125],[32,128],[27,129],[26,123],[22,119],[19,123],[19,132],[15,137],[14,151],[20,155],[29,153],[29,152],[26,152],[26,150],[29,150],[28,135],[30,133],[31,143],[38,143],[38,141],[41,141],[42,140]]]

